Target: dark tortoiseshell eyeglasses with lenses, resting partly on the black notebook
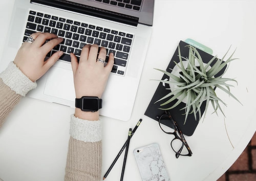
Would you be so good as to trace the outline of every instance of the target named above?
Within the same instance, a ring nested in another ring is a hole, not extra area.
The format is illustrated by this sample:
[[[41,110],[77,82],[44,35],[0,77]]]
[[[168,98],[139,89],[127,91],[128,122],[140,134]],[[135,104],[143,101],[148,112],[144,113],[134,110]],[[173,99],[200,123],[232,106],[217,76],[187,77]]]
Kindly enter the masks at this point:
[[[188,146],[184,138],[184,135],[182,134],[177,122],[170,115],[170,112],[168,110],[165,110],[165,113],[160,117],[157,116],[157,119],[158,119],[159,126],[163,132],[165,132],[166,134],[173,134],[175,136],[174,139],[170,142],[170,146],[176,153],[175,154],[176,158],[178,159],[180,155],[191,156],[192,151]],[[169,122],[172,122],[172,124],[174,125],[174,130],[165,126],[165,125],[168,125]]]

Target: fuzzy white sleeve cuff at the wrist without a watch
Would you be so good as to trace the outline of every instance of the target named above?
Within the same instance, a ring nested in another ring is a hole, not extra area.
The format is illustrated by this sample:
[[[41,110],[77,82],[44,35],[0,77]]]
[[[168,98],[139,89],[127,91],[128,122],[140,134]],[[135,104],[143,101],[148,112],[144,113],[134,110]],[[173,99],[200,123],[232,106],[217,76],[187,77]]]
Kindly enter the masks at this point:
[[[11,61],[4,72],[0,74],[3,82],[11,88],[16,94],[26,96],[29,90],[36,87],[36,82],[32,82],[16,64]]]

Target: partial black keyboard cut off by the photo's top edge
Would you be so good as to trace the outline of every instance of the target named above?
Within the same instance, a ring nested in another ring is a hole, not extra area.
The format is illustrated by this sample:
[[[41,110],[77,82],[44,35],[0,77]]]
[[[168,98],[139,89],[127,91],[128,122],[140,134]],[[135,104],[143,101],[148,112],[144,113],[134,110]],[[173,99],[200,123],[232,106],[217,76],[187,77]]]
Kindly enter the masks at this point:
[[[142,0],[91,0],[96,2],[102,2],[104,4],[109,4],[112,6],[118,6],[125,9],[131,9],[135,11],[140,11]]]

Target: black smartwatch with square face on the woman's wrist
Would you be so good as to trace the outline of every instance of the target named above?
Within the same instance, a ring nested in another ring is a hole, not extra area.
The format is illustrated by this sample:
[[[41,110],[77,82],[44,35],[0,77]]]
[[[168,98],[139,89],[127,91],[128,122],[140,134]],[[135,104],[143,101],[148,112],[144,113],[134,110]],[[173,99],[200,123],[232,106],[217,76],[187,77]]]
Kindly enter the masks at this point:
[[[83,96],[75,100],[75,107],[80,108],[82,111],[96,112],[102,108],[102,99],[95,96]]]

